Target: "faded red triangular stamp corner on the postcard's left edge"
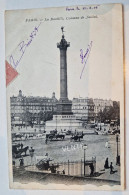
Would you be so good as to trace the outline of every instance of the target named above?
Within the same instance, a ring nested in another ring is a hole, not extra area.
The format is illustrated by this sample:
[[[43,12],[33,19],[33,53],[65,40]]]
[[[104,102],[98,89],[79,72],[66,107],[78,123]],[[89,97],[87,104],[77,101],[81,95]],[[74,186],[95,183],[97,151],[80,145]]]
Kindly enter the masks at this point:
[[[18,72],[7,62],[6,65],[6,86],[18,75]]]

